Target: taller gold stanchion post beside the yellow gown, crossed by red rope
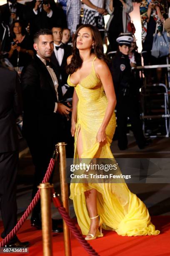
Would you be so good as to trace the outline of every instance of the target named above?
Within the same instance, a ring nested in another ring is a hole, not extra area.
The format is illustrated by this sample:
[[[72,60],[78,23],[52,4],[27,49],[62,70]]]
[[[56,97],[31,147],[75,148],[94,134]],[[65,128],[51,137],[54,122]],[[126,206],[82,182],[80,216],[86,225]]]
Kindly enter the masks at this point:
[[[68,204],[68,185],[66,182],[66,154],[65,154],[64,142],[57,144],[60,153],[60,184],[61,184],[61,198],[62,204],[65,210],[69,214],[69,204]],[[65,256],[71,256],[71,239],[70,230],[67,227],[65,221],[63,220],[63,231],[64,231],[64,246],[65,246]]]

